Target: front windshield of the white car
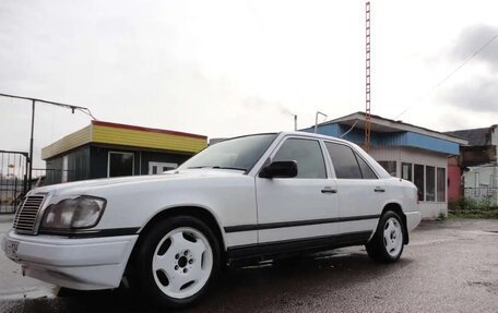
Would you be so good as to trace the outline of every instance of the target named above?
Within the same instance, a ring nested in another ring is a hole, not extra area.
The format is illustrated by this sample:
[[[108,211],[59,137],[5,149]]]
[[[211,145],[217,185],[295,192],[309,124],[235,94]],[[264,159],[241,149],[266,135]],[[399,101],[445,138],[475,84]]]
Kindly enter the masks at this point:
[[[263,155],[276,134],[236,137],[214,144],[193,156],[180,169],[223,168],[250,170]]]

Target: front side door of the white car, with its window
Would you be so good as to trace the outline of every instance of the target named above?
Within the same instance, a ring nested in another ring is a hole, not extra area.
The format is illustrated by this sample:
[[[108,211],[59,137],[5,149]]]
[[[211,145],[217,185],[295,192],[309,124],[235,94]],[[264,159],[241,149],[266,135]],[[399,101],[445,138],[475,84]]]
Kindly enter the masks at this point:
[[[336,186],[334,180],[328,179],[322,143],[316,139],[285,137],[271,159],[295,160],[298,174],[256,177],[260,246],[336,233],[337,225],[332,222],[339,214]]]

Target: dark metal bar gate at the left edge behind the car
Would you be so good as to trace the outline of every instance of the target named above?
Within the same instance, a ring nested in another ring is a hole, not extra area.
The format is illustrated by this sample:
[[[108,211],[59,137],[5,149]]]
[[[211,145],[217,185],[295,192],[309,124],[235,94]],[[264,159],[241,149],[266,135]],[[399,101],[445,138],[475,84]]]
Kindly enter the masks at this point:
[[[0,151],[0,214],[14,213],[27,192],[28,154]]]

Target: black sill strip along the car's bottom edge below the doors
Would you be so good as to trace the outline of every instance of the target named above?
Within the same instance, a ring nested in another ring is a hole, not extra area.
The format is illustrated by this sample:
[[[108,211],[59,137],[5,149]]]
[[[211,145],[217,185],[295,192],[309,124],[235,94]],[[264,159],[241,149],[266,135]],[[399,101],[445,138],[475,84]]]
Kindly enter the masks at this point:
[[[372,231],[355,231],[341,234],[262,242],[260,244],[236,245],[229,246],[227,249],[227,254],[228,260],[234,262],[254,257],[264,258],[265,256],[359,245],[367,243],[371,233]]]

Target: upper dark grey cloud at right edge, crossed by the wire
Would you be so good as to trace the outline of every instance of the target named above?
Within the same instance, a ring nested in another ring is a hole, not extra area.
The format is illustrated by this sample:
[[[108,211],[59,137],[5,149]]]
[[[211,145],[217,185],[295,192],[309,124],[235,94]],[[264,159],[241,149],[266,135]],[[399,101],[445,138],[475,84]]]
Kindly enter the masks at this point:
[[[458,41],[451,51],[451,57],[458,61],[463,61],[497,35],[498,27],[488,25],[469,26],[460,33]],[[475,57],[475,60],[498,69],[498,38],[482,50]]]

